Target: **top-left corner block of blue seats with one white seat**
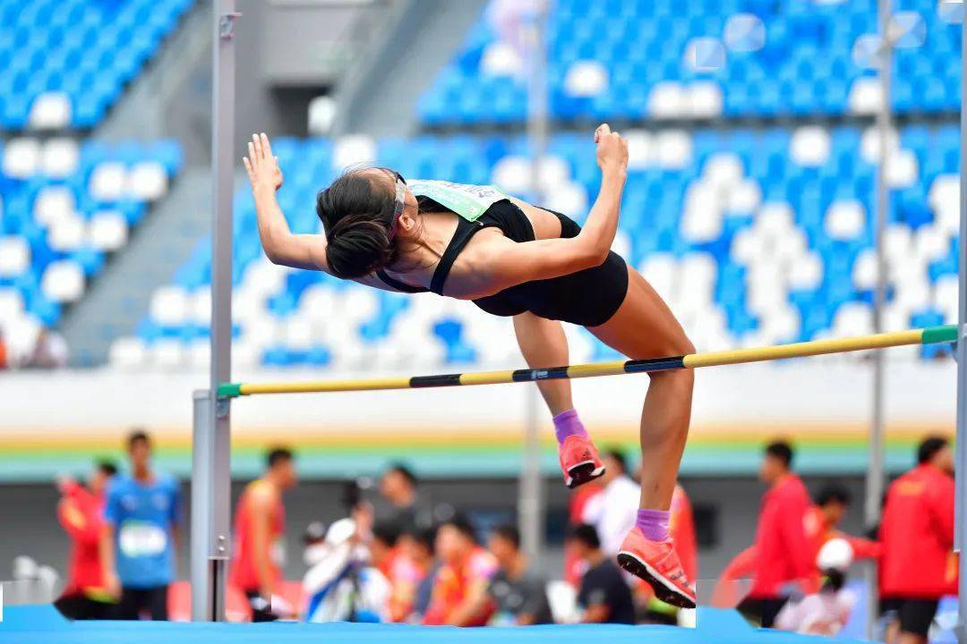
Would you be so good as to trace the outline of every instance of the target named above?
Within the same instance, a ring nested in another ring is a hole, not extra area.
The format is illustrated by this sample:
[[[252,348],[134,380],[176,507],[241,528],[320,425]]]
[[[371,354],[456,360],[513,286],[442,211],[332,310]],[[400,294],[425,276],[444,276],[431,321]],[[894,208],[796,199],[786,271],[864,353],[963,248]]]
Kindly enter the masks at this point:
[[[0,129],[97,125],[191,0],[0,0]]]

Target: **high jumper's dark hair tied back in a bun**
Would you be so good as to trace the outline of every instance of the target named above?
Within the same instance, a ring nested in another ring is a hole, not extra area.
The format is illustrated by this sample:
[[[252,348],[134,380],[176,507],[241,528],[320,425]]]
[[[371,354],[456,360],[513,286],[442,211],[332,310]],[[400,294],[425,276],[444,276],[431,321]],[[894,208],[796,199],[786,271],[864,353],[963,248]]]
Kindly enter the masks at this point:
[[[372,173],[350,172],[316,196],[326,231],[326,261],[337,277],[363,277],[396,259],[390,225],[395,192]]]

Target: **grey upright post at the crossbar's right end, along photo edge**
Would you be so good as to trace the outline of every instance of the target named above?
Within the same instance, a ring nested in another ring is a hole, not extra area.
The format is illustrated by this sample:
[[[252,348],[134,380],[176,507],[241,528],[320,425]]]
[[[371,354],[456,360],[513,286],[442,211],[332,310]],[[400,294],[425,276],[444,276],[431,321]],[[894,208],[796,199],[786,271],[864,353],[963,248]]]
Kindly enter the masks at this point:
[[[967,20],[961,24],[961,70],[967,78]],[[960,587],[958,593],[958,619],[956,634],[958,642],[967,641],[967,557],[963,547],[967,545],[967,517],[964,516],[964,503],[967,502],[967,117],[964,104],[967,103],[967,83],[960,84],[960,248],[957,333],[957,435],[955,445],[956,476],[956,519],[953,530],[953,547],[960,552]]]

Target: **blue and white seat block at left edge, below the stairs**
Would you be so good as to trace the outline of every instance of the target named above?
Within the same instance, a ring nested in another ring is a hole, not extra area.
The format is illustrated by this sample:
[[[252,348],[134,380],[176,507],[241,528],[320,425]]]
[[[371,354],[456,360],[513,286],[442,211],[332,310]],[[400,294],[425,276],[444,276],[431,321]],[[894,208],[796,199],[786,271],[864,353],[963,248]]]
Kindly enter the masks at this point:
[[[181,148],[18,137],[0,145],[0,331],[15,363],[167,191]]]

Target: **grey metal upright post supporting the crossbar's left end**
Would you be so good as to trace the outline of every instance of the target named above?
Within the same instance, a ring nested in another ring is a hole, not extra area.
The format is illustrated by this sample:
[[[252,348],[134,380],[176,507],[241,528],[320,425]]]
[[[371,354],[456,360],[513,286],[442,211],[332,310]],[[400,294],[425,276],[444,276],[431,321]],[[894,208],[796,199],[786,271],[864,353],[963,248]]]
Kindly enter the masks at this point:
[[[232,339],[232,189],[235,148],[235,0],[212,0],[212,322],[211,374],[205,418],[195,433],[204,454],[194,459],[192,500],[207,511],[192,535],[194,593],[192,619],[225,619],[225,581],[229,556],[231,425],[227,400],[218,400],[220,383],[231,380]],[[196,399],[197,400],[197,399]],[[201,405],[197,403],[197,405]],[[197,411],[197,409],[196,409]],[[193,516],[194,513],[192,513]]]

